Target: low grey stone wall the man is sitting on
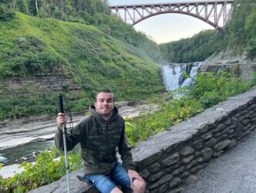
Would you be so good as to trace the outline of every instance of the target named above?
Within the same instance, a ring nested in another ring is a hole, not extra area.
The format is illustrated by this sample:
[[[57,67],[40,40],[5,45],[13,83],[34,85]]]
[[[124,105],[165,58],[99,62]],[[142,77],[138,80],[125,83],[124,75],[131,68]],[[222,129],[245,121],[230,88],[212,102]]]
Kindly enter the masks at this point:
[[[256,127],[256,87],[230,97],[132,149],[137,170],[148,192],[181,192],[183,183],[196,181],[207,162],[236,146]],[[71,192],[97,192],[70,174]],[[67,192],[66,177],[31,192]]]

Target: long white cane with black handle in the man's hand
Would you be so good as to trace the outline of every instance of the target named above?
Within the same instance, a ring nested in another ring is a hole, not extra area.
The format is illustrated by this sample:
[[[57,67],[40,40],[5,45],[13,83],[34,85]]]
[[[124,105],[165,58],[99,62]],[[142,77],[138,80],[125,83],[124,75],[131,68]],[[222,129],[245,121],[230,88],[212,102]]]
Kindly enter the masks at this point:
[[[60,113],[64,113],[62,94],[60,94],[59,96],[59,103],[60,103]],[[66,142],[67,127],[65,124],[62,125],[62,130],[63,130],[63,145],[64,145],[66,173],[67,173],[67,192],[70,193],[70,177],[69,177],[69,165],[67,161],[67,142]]]

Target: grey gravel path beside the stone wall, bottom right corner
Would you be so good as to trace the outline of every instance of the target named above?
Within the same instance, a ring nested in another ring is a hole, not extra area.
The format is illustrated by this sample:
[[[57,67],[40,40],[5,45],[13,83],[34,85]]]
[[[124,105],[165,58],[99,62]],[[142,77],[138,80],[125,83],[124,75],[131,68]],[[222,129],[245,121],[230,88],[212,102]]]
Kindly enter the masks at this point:
[[[184,186],[185,193],[254,193],[256,192],[256,131],[209,162],[197,175],[194,185]]]

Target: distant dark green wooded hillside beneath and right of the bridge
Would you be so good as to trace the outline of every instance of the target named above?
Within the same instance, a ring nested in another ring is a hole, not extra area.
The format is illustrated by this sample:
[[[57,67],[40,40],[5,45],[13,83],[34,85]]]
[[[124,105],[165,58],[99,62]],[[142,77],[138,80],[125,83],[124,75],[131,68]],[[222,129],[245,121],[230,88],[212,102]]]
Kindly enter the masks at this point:
[[[217,30],[207,30],[159,47],[168,63],[203,61],[224,49],[231,49],[237,55],[246,52],[248,59],[253,59],[256,57],[256,2],[234,0],[232,18],[224,35]]]

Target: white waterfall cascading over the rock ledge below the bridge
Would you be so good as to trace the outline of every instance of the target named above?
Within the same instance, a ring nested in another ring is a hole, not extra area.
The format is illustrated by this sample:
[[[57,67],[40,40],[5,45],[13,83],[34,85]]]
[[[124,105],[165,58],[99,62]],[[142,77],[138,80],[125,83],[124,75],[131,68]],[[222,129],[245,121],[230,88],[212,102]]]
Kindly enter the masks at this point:
[[[179,87],[193,86],[202,64],[183,63],[162,66],[162,79],[166,90],[176,90]],[[189,77],[186,78],[184,75],[189,75]]]

